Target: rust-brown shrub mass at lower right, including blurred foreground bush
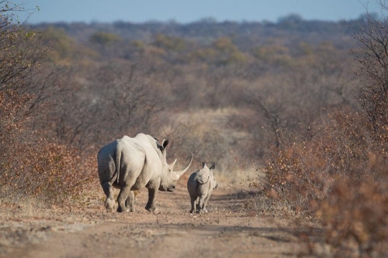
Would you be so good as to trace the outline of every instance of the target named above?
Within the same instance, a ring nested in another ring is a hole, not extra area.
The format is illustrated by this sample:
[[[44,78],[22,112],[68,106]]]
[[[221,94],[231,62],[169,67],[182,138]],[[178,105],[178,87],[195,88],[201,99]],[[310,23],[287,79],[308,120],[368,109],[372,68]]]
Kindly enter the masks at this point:
[[[277,205],[315,214],[323,234],[312,238],[311,230],[302,239],[329,246],[325,255],[387,255],[388,157],[368,125],[344,109],[310,127],[304,140],[283,136],[270,152],[264,187],[252,184]],[[316,248],[310,252],[318,255]]]

